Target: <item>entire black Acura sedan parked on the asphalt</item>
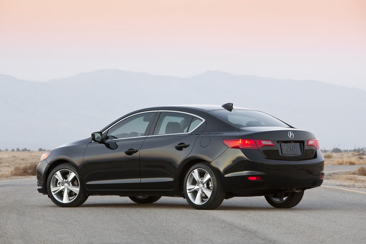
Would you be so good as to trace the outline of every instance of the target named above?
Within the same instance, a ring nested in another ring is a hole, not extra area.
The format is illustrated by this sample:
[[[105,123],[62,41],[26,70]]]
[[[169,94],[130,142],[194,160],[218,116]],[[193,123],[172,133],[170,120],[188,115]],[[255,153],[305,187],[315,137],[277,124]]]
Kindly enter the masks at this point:
[[[43,154],[37,166],[38,192],[62,207],[119,195],[136,203],[184,197],[196,209],[265,196],[290,208],[323,178],[314,134],[231,103],[134,111]]]

